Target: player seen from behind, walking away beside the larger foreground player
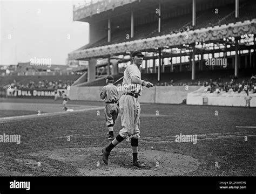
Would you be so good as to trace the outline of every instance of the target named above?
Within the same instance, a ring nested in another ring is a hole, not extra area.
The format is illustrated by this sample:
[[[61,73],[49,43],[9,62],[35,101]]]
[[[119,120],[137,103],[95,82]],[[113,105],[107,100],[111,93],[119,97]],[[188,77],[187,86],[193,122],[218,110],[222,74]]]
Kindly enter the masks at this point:
[[[106,78],[106,86],[102,88],[100,92],[100,98],[105,101],[105,119],[106,126],[109,129],[109,140],[114,139],[113,126],[116,122],[118,112],[119,112],[119,93],[116,86],[113,85],[114,78],[109,75]]]

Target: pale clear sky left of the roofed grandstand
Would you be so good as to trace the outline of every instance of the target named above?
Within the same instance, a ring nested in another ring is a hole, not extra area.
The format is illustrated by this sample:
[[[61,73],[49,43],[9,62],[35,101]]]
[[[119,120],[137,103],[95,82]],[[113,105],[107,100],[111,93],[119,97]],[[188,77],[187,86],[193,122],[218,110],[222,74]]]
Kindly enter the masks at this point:
[[[68,53],[89,43],[89,24],[73,22],[74,0],[0,0],[0,65],[51,59],[66,65]]]

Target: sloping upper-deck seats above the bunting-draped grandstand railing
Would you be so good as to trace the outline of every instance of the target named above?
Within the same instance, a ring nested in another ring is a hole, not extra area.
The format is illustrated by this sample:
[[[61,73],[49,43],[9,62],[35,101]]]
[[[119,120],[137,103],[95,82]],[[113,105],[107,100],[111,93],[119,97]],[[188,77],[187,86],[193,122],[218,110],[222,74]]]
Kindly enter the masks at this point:
[[[157,2],[157,1],[156,1]],[[197,25],[193,29],[201,29],[203,27],[211,27],[215,25],[223,25],[234,23],[238,21],[250,20],[255,18],[255,2],[244,1],[240,5],[240,17],[235,19],[234,8],[232,6],[211,6],[206,10],[198,11],[197,13]],[[181,8],[182,9],[182,8]],[[218,13],[215,13],[217,9]],[[191,9],[192,10],[192,9]],[[248,11],[247,11],[248,10]],[[154,12],[154,10],[152,10]],[[254,16],[253,16],[254,15]],[[117,16],[118,17],[118,16]],[[117,18],[113,18],[116,20]],[[136,21],[135,21],[136,22]],[[130,32],[130,26],[125,29],[114,29],[111,33],[111,41],[107,41],[107,36],[96,41],[96,43],[89,44],[82,49],[90,49],[98,46],[105,46],[110,44],[121,43],[124,41],[139,40],[142,38],[151,38],[159,35],[177,33],[186,29],[187,26],[192,26],[191,12],[185,15],[176,16],[173,18],[165,18],[161,23],[161,32],[158,32],[158,17],[153,17],[152,22],[134,26],[134,37],[126,39],[127,32]]]

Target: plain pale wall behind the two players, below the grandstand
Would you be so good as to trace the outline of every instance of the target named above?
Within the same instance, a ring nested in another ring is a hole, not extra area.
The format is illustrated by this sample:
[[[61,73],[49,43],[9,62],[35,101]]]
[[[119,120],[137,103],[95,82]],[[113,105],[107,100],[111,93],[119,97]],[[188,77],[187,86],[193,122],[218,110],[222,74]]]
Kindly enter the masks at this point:
[[[143,87],[142,96],[139,101],[142,103],[182,103],[187,94],[196,91],[201,86],[154,86]],[[120,92],[120,87],[118,87]],[[103,101],[99,98],[102,86],[71,86],[69,98],[71,100]],[[120,92],[121,93],[121,92]]]

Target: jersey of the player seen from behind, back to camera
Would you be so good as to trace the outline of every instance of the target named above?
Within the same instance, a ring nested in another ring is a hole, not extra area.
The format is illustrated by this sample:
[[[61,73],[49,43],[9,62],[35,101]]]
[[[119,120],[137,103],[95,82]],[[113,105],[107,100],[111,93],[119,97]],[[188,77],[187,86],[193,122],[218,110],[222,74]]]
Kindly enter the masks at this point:
[[[102,88],[100,92],[100,98],[105,102],[117,102],[119,99],[119,93],[116,86],[108,84]]]

